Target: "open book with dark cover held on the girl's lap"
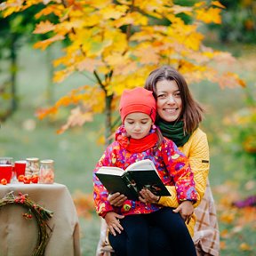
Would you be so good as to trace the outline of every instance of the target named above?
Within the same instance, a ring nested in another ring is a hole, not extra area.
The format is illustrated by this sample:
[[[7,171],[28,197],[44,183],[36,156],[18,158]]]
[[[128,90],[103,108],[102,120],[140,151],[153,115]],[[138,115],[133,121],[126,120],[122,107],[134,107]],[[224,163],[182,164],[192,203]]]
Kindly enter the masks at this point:
[[[138,200],[140,190],[148,188],[156,196],[171,196],[160,179],[155,164],[149,159],[135,162],[125,170],[102,166],[95,174],[109,194],[120,192],[128,199]]]

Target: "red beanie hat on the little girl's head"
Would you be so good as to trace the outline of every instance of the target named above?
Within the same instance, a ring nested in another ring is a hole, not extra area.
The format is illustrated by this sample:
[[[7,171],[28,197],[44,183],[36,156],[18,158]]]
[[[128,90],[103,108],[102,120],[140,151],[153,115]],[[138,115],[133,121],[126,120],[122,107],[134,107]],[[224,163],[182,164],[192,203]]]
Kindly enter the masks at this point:
[[[142,87],[132,90],[124,90],[119,104],[119,112],[122,123],[124,123],[124,118],[127,115],[134,112],[147,114],[155,123],[156,100],[153,96],[153,92],[150,92]]]

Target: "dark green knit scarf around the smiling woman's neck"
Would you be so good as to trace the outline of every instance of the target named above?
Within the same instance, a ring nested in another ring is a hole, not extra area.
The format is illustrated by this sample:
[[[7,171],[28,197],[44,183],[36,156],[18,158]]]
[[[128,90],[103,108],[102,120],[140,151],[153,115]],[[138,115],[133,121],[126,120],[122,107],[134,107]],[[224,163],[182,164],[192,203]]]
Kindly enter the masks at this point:
[[[166,122],[159,118],[156,125],[159,127],[163,136],[172,140],[178,147],[183,146],[190,138],[191,134],[184,131],[183,121]]]

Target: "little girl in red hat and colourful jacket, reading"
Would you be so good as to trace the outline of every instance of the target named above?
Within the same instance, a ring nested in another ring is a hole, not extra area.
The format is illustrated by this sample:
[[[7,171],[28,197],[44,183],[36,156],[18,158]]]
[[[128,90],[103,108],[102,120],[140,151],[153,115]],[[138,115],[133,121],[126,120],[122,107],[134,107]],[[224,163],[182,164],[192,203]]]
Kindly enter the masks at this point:
[[[119,111],[122,125],[116,131],[116,140],[105,150],[93,172],[96,211],[107,222],[110,244],[116,255],[148,256],[148,231],[153,225],[161,228],[166,239],[175,244],[175,248],[170,249],[172,252],[166,251],[166,255],[196,255],[184,220],[179,213],[172,212],[172,208],[157,204],[159,196],[152,198],[152,204],[147,204],[142,196],[147,191],[142,189],[140,201],[125,200],[122,206],[109,203],[108,191],[95,173],[101,166],[125,169],[142,159],[154,162],[165,186],[175,186],[180,207],[188,220],[194,212],[193,204],[197,198],[188,158],[172,140],[164,139],[154,125],[156,100],[152,92],[144,88],[124,91]],[[151,239],[150,243],[154,241]]]

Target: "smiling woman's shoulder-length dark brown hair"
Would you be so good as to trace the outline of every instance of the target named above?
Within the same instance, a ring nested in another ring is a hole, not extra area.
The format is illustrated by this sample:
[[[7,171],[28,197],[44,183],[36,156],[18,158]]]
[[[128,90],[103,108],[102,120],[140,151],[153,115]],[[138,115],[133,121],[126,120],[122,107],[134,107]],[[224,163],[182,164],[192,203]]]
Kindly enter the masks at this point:
[[[144,88],[153,92],[156,98],[156,83],[159,81],[175,81],[180,90],[182,102],[182,111],[177,121],[183,120],[184,131],[192,133],[202,121],[204,116],[204,108],[194,100],[191,92],[188,89],[188,84],[185,78],[175,69],[170,66],[163,66],[153,70],[146,81]]]

